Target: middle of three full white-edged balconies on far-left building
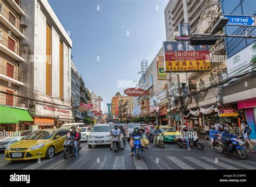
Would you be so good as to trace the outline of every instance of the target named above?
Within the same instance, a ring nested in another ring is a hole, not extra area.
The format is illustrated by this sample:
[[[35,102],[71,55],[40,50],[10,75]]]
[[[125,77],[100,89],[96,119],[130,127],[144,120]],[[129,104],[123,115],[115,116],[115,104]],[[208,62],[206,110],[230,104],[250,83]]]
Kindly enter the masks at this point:
[[[19,52],[18,47],[15,45],[11,45],[7,39],[5,39],[1,36],[0,36],[0,51],[11,56],[13,59],[15,59],[17,61],[24,62],[23,53]]]

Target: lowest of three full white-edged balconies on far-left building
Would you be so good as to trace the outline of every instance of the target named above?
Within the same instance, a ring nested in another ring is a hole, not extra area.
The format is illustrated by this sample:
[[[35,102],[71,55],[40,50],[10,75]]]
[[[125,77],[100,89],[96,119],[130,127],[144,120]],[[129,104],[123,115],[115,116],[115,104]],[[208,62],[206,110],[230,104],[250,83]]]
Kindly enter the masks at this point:
[[[11,82],[16,85],[24,85],[22,82],[22,76],[14,72],[13,70],[8,70],[6,67],[0,65],[0,79]]]

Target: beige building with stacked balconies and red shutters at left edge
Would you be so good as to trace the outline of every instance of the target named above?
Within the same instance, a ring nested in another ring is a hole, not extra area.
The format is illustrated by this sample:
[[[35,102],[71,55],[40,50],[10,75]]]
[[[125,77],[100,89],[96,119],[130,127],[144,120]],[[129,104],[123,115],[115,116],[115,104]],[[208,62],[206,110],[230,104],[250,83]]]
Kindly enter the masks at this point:
[[[4,111],[8,111],[8,116],[1,118],[0,131],[17,131],[18,123],[33,121],[27,110],[24,110],[27,119],[25,116],[14,117],[11,114],[17,114],[18,110],[28,107],[25,100],[17,97],[25,81],[21,74],[21,66],[25,61],[21,49],[21,40],[25,38],[24,27],[21,24],[23,17],[25,12],[19,0],[0,0],[0,105],[2,105],[0,113],[4,114]]]

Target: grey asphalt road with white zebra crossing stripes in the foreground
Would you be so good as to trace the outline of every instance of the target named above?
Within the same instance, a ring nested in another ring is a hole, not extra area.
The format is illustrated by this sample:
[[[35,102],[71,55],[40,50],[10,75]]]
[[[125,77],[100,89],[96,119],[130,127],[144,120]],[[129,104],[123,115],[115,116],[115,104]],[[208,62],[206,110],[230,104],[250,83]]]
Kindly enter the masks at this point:
[[[211,149],[204,142],[205,149],[187,150],[177,147],[176,143],[165,143],[165,148],[152,147],[143,152],[142,159],[130,156],[131,148],[126,143],[125,150],[116,153],[109,146],[88,148],[82,143],[79,157],[71,155],[67,160],[63,152],[50,160],[5,161],[0,153],[0,169],[256,169],[256,154],[249,154],[247,160],[238,155],[223,157],[217,149]]]

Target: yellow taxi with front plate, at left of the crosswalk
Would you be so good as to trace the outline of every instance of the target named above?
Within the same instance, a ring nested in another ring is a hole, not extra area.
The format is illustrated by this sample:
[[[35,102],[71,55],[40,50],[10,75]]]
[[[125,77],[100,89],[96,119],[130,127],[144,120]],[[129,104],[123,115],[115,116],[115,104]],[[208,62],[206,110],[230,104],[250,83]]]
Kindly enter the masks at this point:
[[[51,159],[64,149],[63,143],[69,130],[35,130],[22,140],[5,149],[5,160]]]

